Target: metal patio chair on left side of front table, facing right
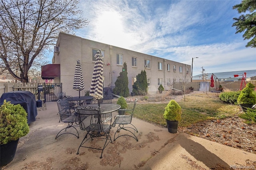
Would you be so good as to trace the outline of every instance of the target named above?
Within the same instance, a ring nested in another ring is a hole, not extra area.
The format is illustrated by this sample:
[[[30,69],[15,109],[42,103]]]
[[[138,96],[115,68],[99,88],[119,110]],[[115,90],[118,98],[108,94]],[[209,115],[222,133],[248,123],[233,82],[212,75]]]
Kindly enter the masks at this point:
[[[57,105],[58,105],[58,110],[59,110],[59,115],[60,115],[60,121],[62,121],[63,123],[68,123],[68,126],[63,128],[62,130],[60,130],[60,132],[58,132],[58,134],[56,135],[55,139],[58,138],[60,135],[62,134],[73,134],[75,135],[77,138],[79,138],[79,134],[78,134],[78,130],[75,127],[79,127],[78,126],[78,116],[76,113],[72,113],[70,111],[70,107],[68,104],[68,99],[59,99],[57,101]],[[73,124],[76,125],[73,125]],[[69,128],[74,128],[76,130],[76,134],[68,131],[67,130]],[[62,131],[65,131],[63,133],[61,133]]]

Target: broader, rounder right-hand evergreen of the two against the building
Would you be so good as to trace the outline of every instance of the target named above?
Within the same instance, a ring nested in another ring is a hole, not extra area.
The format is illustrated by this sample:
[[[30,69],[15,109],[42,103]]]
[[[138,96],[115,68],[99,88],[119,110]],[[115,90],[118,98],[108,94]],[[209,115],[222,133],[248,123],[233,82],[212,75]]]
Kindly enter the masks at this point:
[[[136,76],[136,82],[132,85],[132,92],[135,95],[146,95],[148,93],[147,74],[145,70]]]

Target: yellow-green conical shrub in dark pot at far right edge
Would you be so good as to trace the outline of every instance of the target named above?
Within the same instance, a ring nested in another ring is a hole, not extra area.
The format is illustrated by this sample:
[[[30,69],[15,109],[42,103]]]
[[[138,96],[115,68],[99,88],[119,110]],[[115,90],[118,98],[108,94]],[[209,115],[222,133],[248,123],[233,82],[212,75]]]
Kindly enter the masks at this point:
[[[243,111],[256,104],[256,95],[253,93],[253,88],[254,85],[252,83],[247,83],[237,98],[237,103]]]

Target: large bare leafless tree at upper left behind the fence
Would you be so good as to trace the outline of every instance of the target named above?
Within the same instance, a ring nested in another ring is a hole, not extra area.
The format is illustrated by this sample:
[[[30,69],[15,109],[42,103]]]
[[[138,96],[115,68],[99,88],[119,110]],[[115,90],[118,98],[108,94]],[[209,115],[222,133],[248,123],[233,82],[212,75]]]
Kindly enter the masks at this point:
[[[0,71],[28,82],[28,71],[45,61],[60,32],[88,25],[78,0],[0,0]]]

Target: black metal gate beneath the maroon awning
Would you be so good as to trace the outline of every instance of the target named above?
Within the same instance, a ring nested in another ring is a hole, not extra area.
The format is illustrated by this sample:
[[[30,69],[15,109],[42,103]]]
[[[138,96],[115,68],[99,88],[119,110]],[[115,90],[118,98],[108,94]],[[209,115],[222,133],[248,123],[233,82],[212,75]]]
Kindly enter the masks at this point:
[[[62,91],[62,83],[44,83],[44,101],[57,101],[58,93]]]

